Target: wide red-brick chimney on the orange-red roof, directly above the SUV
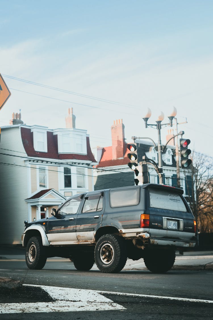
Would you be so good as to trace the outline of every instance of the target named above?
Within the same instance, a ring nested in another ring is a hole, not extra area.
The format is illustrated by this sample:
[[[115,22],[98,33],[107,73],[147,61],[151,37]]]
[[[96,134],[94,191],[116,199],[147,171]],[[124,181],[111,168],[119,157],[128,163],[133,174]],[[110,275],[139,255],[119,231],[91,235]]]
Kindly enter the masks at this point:
[[[111,126],[112,134],[112,159],[119,159],[124,157],[125,153],[125,138],[124,138],[124,124],[123,120],[114,121]]]

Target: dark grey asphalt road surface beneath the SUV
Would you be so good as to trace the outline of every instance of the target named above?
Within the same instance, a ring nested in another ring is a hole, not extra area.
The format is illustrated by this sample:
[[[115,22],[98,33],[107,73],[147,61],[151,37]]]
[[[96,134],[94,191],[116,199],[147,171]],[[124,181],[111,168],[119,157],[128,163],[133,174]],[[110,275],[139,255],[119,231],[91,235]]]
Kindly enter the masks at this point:
[[[23,284],[100,291],[103,296],[123,308],[103,311],[97,308],[95,311],[32,312],[31,319],[42,317],[46,319],[102,318],[102,320],[115,317],[122,320],[213,318],[213,303],[201,301],[213,300],[212,270],[171,270],[166,274],[152,274],[148,270],[123,270],[118,274],[103,274],[96,268],[88,272],[77,271],[70,260],[57,258],[48,259],[42,270],[29,270],[22,253],[23,251],[20,252],[19,259],[0,260],[0,276],[20,280]],[[164,297],[172,299],[164,299]],[[190,299],[198,301],[193,302]],[[28,319],[29,314],[2,314],[0,318]]]

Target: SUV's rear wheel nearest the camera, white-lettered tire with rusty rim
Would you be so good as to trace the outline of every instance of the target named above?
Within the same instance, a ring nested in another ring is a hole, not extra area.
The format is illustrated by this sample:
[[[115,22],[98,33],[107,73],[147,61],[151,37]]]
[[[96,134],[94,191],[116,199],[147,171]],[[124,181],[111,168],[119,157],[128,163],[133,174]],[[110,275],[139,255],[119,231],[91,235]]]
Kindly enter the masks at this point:
[[[104,273],[118,273],[127,260],[124,239],[107,234],[101,236],[95,245],[95,262]]]

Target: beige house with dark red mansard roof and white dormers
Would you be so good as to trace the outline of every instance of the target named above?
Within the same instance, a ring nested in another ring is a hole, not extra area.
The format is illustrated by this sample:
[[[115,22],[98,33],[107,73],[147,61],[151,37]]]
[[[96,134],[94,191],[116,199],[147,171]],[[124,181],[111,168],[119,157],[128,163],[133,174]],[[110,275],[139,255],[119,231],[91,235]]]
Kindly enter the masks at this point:
[[[94,190],[87,131],[75,128],[72,108],[65,120],[66,128],[48,129],[13,114],[1,128],[0,244],[20,244],[24,220],[50,217],[68,197]]]

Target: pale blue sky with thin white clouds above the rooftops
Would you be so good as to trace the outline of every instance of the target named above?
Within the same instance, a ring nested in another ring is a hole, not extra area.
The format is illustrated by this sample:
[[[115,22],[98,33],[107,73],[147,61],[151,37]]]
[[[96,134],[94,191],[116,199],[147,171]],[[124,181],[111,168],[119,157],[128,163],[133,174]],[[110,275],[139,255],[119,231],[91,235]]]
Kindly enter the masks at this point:
[[[26,124],[65,127],[73,107],[76,127],[87,129],[95,148],[111,144],[110,127],[120,118],[127,141],[133,135],[157,140],[142,117],[150,108],[150,123],[160,111],[167,122],[175,106],[178,122],[187,117],[178,129],[192,141],[191,148],[213,156],[208,143],[213,137],[212,12],[213,2],[205,0],[0,0],[0,73],[12,93],[0,111],[0,125],[21,109]],[[163,142],[168,129],[162,129]]]

